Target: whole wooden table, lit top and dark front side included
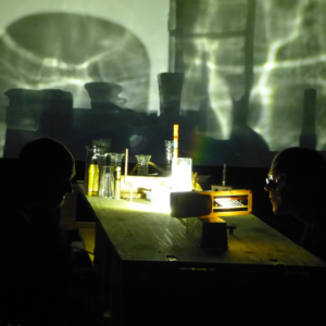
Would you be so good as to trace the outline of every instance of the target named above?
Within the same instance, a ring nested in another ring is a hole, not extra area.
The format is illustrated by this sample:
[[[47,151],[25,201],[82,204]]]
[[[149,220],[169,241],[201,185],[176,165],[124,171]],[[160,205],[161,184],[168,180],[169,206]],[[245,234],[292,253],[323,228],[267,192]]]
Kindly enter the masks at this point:
[[[184,221],[149,204],[86,198],[97,220],[97,306],[118,325],[314,325],[310,309],[319,317],[326,264],[254,215],[225,217],[237,227],[228,249],[205,249]]]

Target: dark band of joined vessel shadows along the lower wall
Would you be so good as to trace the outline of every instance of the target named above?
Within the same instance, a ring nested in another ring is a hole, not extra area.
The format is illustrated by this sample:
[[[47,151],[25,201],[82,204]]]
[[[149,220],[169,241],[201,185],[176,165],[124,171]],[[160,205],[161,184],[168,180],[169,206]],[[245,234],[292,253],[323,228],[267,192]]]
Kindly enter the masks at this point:
[[[162,78],[164,76],[164,78]],[[165,78],[168,76],[168,78]],[[28,140],[47,136],[62,141],[78,161],[93,139],[110,139],[111,152],[129,149],[135,154],[150,154],[156,164],[165,164],[164,140],[172,137],[174,124],[180,127],[179,156],[192,158],[193,165],[254,166],[269,164],[271,152],[264,139],[247,125],[247,100],[231,108],[233,134],[228,140],[215,140],[199,128],[204,111],[180,115],[183,78],[176,73],[160,75],[161,115],[145,115],[121,106],[122,87],[113,83],[87,83],[91,110],[73,109],[71,92],[60,89],[10,89],[7,110],[5,158],[15,158]],[[173,80],[177,77],[176,80]],[[177,85],[175,85],[177,84]],[[172,86],[173,91],[170,91]],[[178,93],[175,89],[179,89]],[[134,160],[135,161],[135,160]]]

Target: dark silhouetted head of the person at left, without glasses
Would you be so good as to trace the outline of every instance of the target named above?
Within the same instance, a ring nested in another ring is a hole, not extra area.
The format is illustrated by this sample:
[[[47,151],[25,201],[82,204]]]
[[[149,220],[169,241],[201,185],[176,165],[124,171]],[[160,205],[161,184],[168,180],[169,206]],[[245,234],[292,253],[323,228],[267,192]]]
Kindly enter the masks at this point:
[[[59,141],[40,138],[26,143],[18,156],[21,193],[27,205],[42,204],[59,208],[75,175],[75,161]]]

